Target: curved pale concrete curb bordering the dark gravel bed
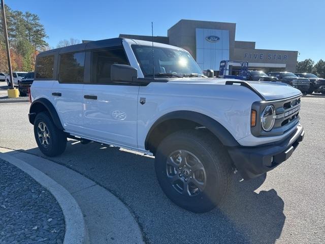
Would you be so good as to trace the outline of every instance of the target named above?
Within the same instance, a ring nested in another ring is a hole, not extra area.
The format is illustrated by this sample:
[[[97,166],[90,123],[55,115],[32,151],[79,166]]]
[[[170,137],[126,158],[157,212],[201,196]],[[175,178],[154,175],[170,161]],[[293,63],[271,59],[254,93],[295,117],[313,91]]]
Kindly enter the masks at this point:
[[[62,209],[64,221],[66,222],[66,233],[64,234],[63,244],[89,243],[88,233],[81,209],[74,197],[65,188],[40,170],[20,159],[3,153],[0,153],[0,158],[29,174],[55,197]]]

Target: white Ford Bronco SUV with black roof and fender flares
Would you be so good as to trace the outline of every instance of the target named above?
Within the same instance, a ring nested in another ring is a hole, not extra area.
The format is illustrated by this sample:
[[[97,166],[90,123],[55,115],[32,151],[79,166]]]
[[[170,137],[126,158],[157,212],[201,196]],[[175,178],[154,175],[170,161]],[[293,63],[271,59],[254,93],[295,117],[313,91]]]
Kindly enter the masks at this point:
[[[62,154],[67,138],[153,155],[165,194],[194,212],[218,205],[235,171],[262,175],[304,137],[300,90],[205,77],[187,51],[160,43],[115,38],[42,52],[30,95],[45,155]]]

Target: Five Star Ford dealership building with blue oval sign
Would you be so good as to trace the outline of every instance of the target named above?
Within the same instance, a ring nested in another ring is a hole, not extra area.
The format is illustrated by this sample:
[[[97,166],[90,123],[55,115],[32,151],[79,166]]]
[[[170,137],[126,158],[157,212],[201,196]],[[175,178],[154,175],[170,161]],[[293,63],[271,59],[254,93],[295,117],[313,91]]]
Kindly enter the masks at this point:
[[[154,42],[184,48],[202,70],[218,71],[221,60],[239,60],[249,62],[252,70],[296,71],[298,51],[256,49],[255,42],[236,41],[236,23],[181,19],[167,33],[167,37],[153,37]],[[152,41],[151,36],[119,37]]]

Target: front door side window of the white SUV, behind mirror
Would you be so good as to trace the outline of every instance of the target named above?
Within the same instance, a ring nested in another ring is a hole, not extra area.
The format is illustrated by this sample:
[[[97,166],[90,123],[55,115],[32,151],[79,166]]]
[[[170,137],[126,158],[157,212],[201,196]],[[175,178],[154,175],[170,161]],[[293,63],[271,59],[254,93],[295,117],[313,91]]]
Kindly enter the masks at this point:
[[[91,51],[91,83],[110,83],[113,64],[128,65],[123,48]]]

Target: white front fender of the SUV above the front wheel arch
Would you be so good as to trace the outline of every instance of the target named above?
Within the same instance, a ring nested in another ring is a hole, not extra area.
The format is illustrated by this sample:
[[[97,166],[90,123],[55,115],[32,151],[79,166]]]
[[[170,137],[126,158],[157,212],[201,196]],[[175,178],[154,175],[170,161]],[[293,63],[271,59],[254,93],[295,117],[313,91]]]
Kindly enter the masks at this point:
[[[228,96],[229,93],[233,96]],[[180,110],[207,115],[218,121],[236,140],[244,138],[250,135],[251,104],[261,100],[243,86],[176,82],[142,86],[139,97],[146,98],[146,103],[138,106],[138,143],[141,149],[144,149],[147,133],[155,121]]]

